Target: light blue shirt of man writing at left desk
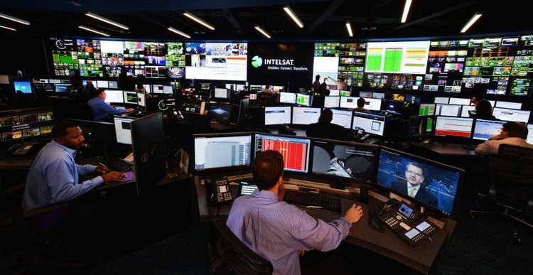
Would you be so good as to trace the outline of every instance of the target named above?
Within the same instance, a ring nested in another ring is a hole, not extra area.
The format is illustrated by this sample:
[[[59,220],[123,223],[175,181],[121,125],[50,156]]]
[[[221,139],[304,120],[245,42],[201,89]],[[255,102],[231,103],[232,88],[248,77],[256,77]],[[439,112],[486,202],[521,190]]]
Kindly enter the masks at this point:
[[[74,152],[55,141],[39,151],[26,176],[23,210],[72,200],[104,183],[101,176],[79,183],[79,175],[94,173],[97,166],[76,164]]]

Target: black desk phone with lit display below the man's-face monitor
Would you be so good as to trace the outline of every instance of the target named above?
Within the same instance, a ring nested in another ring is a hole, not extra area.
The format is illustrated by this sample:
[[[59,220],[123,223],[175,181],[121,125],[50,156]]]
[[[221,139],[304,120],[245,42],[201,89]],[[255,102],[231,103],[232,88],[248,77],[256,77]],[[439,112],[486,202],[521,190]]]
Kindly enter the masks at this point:
[[[419,210],[394,198],[378,207],[372,216],[413,246],[438,231],[438,227],[420,215]]]

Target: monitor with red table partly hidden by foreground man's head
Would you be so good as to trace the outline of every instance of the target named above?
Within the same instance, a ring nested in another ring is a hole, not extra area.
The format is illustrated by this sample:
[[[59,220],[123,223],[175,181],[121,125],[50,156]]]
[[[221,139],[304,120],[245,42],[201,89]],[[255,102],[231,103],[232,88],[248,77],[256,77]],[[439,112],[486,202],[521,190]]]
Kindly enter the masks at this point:
[[[276,150],[283,155],[284,170],[289,173],[306,174],[311,158],[311,139],[303,136],[280,134],[254,134],[254,156],[266,150]]]

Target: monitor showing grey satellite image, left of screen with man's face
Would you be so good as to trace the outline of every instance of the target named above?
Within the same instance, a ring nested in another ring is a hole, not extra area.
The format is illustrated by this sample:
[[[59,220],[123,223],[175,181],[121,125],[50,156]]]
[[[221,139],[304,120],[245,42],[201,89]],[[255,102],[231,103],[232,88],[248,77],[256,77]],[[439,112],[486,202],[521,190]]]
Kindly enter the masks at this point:
[[[375,183],[379,146],[359,142],[311,139],[311,173],[325,178],[335,188],[359,188]],[[340,186],[339,186],[340,185]]]

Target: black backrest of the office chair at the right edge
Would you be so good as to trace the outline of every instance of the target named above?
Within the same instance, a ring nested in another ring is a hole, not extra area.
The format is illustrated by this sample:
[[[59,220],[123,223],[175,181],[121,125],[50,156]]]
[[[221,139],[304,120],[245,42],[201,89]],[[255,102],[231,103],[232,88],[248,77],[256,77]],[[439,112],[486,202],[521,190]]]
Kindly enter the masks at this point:
[[[503,146],[503,147],[502,147]],[[533,210],[533,150],[502,144],[485,156],[489,198],[514,210]],[[501,153],[500,153],[501,152]]]

